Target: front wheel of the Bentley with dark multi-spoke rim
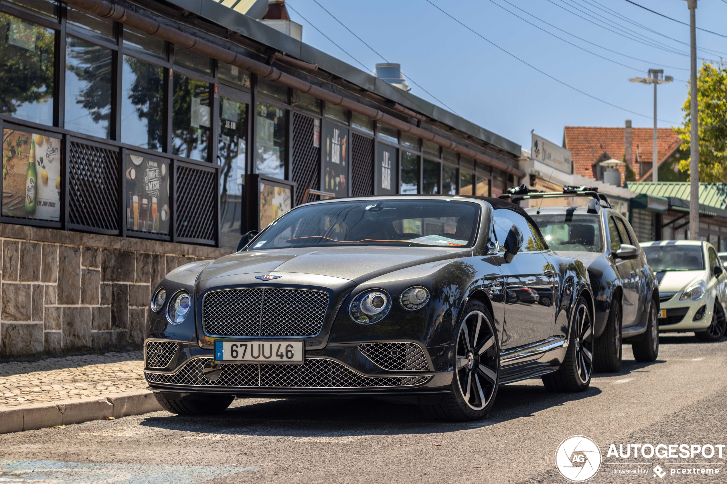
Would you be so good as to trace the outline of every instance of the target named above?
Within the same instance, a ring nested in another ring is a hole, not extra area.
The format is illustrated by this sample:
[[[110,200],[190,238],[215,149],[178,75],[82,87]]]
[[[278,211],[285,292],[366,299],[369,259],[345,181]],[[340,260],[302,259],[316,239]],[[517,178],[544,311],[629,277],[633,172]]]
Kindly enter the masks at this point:
[[[465,306],[455,337],[451,392],[422,405],[435,420],[479,420],[492,408],[499,384],[499,343],[490,311],[478,300]]]

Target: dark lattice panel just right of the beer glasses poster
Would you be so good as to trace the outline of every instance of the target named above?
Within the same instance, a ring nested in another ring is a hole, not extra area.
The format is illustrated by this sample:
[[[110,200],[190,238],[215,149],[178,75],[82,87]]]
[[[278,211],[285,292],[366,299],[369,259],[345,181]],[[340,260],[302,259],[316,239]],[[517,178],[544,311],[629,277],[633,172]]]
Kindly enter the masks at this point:
[[[214,171],[177,165],[177,239],[214,244],[217,232],[217,193]]]

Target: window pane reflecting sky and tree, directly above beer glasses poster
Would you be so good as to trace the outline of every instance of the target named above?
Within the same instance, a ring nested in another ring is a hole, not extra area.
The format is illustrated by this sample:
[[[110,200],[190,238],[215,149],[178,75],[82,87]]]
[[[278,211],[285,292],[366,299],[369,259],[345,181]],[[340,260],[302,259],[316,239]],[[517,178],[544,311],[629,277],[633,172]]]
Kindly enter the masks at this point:
[[[124,56],[121,142],[161,151],[164,134],[164,67]]]

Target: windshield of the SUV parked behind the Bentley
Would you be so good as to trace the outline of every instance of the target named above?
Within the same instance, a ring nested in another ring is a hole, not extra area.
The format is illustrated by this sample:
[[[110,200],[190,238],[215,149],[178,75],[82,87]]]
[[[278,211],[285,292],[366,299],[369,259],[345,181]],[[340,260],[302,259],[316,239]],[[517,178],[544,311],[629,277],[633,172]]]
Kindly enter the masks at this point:
[[[597,215],[576,215],[574,213],[531,213],[545,242],[553,250],[576,250],[578,252],[601,252],[601,218]]]

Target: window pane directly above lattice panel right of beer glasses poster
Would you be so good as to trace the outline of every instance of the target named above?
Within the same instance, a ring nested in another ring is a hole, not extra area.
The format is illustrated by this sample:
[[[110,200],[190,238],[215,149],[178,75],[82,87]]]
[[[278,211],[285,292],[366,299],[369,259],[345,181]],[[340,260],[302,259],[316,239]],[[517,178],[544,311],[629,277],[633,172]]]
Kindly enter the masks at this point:
[[[172,153],[205,161],[210,126],[209,83],[174,73]]]

